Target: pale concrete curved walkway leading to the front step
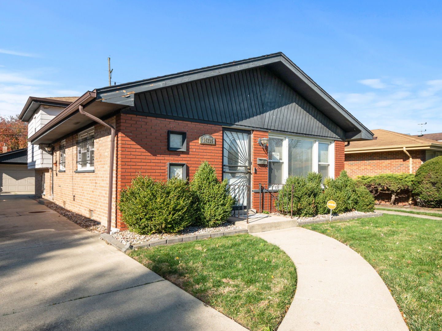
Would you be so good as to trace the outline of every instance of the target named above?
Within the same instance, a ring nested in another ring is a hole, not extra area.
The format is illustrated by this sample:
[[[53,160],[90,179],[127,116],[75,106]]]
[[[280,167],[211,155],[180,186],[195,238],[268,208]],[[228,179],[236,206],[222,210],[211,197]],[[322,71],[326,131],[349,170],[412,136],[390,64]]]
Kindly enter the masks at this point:
[[[296,294],[278,331],[408,331],[377,272],[343,243],[304,228],[254,235],[281,247],[296,266]]]

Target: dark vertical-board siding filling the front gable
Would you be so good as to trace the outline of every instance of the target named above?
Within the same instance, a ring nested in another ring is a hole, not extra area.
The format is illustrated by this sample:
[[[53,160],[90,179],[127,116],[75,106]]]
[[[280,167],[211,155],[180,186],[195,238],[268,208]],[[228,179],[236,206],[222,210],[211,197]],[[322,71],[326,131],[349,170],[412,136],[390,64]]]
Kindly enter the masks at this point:
[[[138,112],[339,138],[344,132],[264,67],[135,95]]]

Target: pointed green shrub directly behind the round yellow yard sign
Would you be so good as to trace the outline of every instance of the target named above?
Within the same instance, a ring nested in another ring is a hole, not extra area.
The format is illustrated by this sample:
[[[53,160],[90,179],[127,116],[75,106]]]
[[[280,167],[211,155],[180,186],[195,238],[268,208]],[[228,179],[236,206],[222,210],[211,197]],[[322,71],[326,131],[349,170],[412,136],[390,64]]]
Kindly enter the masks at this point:
[[[356,194],[356,182],[343,170],[336,179],[326,178],[324,180],[324,192],[318,199],[318,213],[326,214],[330,212],[327,207],[328,200],[336,202],[334,213],[345,213],[354,210],[358,204]],[[373,203],[374,205],[374,203]]]

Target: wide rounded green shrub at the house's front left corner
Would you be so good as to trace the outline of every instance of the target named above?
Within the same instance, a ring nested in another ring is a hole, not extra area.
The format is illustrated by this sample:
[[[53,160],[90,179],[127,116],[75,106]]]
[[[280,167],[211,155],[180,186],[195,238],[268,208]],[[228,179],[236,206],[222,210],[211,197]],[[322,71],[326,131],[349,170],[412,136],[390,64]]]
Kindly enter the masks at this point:
[[[120,192],[118,208],[130,231],[178,232],[194,222],[198,204],[187,181],[137,176]]]

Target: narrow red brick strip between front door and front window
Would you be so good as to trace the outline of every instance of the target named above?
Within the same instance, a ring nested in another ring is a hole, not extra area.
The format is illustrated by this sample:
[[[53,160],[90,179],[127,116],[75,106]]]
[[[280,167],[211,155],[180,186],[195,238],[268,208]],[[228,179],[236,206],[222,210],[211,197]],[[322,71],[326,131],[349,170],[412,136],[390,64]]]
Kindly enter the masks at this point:
[[[258,145],[259,138],[268,138],[267,131],[253,131],[251,134],[251,189],[258,190],[259,183],[267,188],[268,167],[267,164],[257,164],[257,158],[268,158],[268,145]],[[255,172],[256,169],[256,172]],[[251,208],[259,209],[259,193],[251,194]]]

